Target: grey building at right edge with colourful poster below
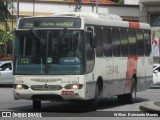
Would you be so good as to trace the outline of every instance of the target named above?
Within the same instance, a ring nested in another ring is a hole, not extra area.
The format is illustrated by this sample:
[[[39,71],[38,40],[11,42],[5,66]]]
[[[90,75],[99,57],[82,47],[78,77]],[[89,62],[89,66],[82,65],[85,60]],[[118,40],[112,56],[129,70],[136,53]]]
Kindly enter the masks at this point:
[[[139,10],[139,20],[151,25],[153,60],[160,63],[160,0],[140,0]]]

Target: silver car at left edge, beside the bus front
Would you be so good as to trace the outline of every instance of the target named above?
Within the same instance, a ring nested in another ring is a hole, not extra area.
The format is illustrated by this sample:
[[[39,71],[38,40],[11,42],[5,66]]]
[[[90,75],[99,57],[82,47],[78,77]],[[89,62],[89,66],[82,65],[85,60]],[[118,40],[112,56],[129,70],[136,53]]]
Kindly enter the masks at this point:
[[[0,61],[0,85],[13,84],[13,62]]]

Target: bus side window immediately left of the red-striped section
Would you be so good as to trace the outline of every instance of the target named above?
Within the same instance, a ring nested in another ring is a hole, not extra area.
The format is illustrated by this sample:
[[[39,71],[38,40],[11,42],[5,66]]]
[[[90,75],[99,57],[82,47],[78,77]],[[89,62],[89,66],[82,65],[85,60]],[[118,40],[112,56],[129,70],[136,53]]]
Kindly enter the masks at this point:
[[[128,56],[128,34],[127,29],[120,29],[121,52],[122,56]]]

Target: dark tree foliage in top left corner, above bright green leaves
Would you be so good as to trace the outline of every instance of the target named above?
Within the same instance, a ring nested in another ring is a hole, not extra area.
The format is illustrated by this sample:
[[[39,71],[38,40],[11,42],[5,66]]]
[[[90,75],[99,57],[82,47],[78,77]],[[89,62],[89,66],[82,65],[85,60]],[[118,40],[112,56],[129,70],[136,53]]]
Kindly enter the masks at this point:
[[[0,23],[5,26],[5,29],[9,29],[7,21],[12,17],[8,10],[10,7],[12,7],[12,0],[0,0]]]

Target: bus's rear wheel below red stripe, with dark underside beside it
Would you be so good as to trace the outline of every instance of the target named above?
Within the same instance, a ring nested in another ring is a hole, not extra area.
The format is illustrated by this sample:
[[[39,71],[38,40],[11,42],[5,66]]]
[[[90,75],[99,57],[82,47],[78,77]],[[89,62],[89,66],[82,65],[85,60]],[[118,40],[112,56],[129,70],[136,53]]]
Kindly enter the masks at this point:
[[[131,92],[128,94],[118,95],[119,103],[129,103],[133,104],[136,100],[137,84],[135,78],[132,79]]]

